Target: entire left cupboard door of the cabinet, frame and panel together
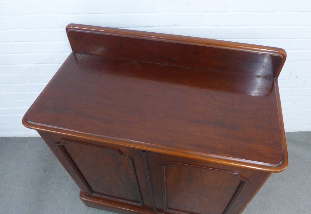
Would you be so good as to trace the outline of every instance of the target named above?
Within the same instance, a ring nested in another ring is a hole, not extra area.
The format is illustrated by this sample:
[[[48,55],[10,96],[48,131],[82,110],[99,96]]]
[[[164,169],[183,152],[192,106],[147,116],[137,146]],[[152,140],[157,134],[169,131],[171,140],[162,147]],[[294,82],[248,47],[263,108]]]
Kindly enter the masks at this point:
[[[45,140],[46,141],[46,140]],[[48,143],[46,141],[46,143]],[[48,143],[48,145],[51,143]],[[70,164],[88,193],[103,200],[152,209],[142,151],[103,143],[61,139],[49,146]],[[58,148],[58,149],[57,149]],[[58,151],[57,151],[58,150]],[[63,159],[63,160],[62,160]],[[64,164],[64,160],[67,164]],[[67,167],[68,168],[68,167]],[[72,169],[66,170],[70,173]],[[72,178],[75,180],[75,177]],[[77,181],[76,181],[77,182]],[[78,182],[77,182],[78,183]],[[83,191],[82,189],[82,191]]]

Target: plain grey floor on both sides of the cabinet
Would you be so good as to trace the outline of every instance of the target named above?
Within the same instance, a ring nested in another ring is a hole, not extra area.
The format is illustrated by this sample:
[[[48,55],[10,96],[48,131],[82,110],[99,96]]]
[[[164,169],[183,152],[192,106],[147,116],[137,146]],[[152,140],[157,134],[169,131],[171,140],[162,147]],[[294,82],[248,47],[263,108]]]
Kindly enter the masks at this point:
[[[311,132],[286,133],[289,166],[274,173],[243,214],[311,213]],[[0,138],[0,213],[101,213],[41,138]]]

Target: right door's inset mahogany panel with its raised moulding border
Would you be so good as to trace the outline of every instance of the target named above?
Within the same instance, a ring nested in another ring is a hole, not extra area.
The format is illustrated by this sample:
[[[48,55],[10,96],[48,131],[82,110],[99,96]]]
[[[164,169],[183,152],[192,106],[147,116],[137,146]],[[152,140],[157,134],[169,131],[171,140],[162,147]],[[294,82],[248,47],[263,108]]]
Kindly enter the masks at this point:
[[[188,164],[161,169],[164,212],[172,214],[225,214],[247,182],[238,172]]]

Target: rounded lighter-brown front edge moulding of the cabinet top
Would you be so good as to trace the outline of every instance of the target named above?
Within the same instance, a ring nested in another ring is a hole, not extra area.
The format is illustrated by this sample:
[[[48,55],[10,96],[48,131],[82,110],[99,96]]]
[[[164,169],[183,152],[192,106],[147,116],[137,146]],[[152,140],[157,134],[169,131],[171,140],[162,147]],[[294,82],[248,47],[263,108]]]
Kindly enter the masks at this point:
[[[189,159],[194,159],[194,160],[199,160],[199,161],[218,163],[218,164],[236,166],[236,167],[259,170],[259,171],[281,172],[285,170],[288,164],[287,153],[286,155],[283,154],[283,160],[279,164],[271,164],[271,163],[257,162],[257,161],[245,160],[245,159],[234,158],[234,157],[220,156],[220,155],[209,154],[209,153],[202,153],[202,152],[186,150],[186,149],[181,149],[181,148],[173,148],[173,147],[167,147],[167,146],[162,146],[162,145],[155,145],[151,143],[144,143],[144,142],[128,140],[128,139],[120,139],[120,138],[111,137],[111,136],[103,136],[99,134],[85,133],[85,132],[81,132],[78,130],[70,130],[67,128],[27,121],[26,117],[23,118],[22,122],[23,122],[23,125],[26,126],[27,128],[35,129],[38,131],[49,132],[53,134],[60,134],[66,137],[77,137],[77,138],[84,139],[84,140],[92,140],[92,141],[97,141],[97,142],[102,142],[102,143],[111,143],[115,145],[136,148],[136,149],[149,151],[149,152],[162,153],[162,154],[184,157],[184,158],[189,158]],[[282,145],[282,147],[284,148],[284,145]]]

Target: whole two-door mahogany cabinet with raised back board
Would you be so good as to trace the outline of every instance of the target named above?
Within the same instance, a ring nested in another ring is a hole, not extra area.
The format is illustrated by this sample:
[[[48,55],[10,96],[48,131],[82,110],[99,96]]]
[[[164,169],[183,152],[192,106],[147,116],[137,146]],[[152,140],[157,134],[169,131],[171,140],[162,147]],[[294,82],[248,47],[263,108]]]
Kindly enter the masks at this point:
[[[70,24],[72,54],[23,118],[90,207],[237,214],[288,164],[283,49]]]

